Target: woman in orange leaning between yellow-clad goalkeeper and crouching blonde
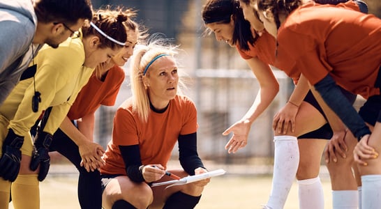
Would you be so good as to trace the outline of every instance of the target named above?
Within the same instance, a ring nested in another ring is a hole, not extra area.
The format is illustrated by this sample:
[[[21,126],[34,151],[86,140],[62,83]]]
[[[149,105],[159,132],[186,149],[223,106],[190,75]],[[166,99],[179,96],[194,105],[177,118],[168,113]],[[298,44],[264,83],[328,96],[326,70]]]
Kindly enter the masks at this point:
[[[116,10],[114,13],[118,13]],[[102,192],[98,169],[104,164],[102,146],[94,143],[95,111],[100,105],[115,104],[119,88],[124,82],[124,66],[133,54],[133,48],[144,38],[139,25],[131,20],[132,10],[123,14],[128,20],[126,45],[110,61],[97,66],[89,82],[78,94],[59,130],[54,133],[50,151],[58,151],[67,157],[80,172],[78,179],[78,199],[81,208],[101,208]]]

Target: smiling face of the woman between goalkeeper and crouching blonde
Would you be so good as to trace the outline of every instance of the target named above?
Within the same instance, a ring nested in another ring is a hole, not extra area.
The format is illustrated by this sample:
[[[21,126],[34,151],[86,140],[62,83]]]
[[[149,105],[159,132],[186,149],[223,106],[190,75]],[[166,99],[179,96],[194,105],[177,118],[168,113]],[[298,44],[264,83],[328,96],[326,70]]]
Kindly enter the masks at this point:
[[[118,54],[112,57],[112,61],[115,64],[119,66],[124,66],[126,64],[130,56],[133,55],[133,49],[137,44],[137,36],[137,31],[133,31],[131,29],[127,31],[126,45],[119,51]]]

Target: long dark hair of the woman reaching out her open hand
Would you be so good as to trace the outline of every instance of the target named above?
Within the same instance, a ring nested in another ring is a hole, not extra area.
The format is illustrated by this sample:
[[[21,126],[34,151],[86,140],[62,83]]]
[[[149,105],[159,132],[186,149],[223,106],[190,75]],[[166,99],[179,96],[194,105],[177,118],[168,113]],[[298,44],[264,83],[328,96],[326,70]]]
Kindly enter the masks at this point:
[[[244,12],[239,7],[239,1],[209,0],[202,10],[204,24],[228,24],[230,23],[230,16],[234,20],[232,43],[235,45],[238,42],[239,48],[247,51],[249,49],[248,44],[253,45],[256,38],[251,33],[250,22],[244,18]]]

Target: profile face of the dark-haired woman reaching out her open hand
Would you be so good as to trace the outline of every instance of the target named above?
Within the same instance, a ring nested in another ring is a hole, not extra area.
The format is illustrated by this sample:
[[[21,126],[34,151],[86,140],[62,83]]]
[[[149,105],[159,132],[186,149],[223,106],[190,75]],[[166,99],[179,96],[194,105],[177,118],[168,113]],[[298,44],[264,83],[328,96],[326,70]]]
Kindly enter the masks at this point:
[[[232,43],[233,34],[234,34],[233,20],[230,20],[230,22],[227,24],[214,22],[214,23],[206,24],[205,26],[207,26],[208,29],[213,31],[217,41],[223,40],[231,47],[234,47],[234,44]]]

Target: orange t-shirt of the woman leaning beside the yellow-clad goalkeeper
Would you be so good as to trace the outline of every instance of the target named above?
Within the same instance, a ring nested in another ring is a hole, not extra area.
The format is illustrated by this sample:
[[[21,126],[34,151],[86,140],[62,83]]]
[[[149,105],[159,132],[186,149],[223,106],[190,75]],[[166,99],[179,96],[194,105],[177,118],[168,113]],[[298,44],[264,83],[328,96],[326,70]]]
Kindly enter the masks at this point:
[[[94,113],[100,104],[112,106],[115,104],[121,84],[124,81],[124,70],[114,65],[107,72],[105,81],[100,81],[95,72],[84,86],[68,112],[70,120],[77,120]]]

